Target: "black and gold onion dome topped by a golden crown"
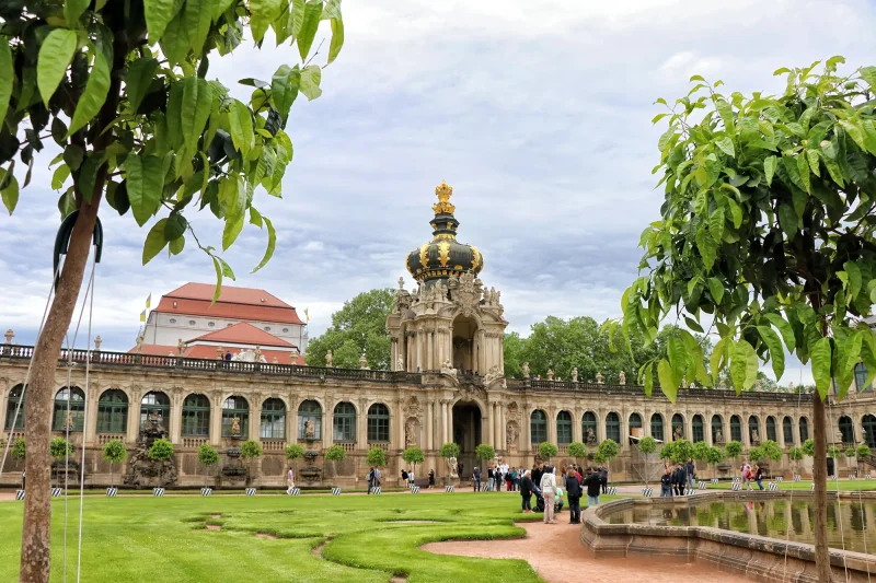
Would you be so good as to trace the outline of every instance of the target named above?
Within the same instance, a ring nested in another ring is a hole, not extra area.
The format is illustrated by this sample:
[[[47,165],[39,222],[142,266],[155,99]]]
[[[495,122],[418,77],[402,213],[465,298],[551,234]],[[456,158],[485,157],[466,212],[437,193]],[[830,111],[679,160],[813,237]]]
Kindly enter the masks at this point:
[[[407,271],[420,282],[459,277],[477,276],[484,268],[484,257],[477,247],[457,241],[459,221],[453,217],[456,207],[450,203],[453,187],[442,182],[435,188],[438,202],[433,205],[435,218],[430,224],[434,238],[407,255]]]

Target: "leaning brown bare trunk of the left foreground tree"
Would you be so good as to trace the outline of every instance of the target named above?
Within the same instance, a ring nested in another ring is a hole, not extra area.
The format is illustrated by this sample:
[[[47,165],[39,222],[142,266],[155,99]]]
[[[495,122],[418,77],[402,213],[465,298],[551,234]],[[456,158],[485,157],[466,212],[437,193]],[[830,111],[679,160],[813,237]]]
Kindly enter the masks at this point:
[[[24,498],[24,522],[21,538],[21,583],[46,583],[49,578],[49,541],[51,527],[51,405],[55,394],[55,370],[61,342],[76,308],[79,290],[97,218],[100,197],[83,202],[70,236],[70,245],[58,290],[51,301],[43,334],[34,348],[31,380],[27,384],[25,412],[27,442],[25,470],[31,488]],[[84,433],[83,433],[84,436]],[[84,444],[83,444],[84,445]]]

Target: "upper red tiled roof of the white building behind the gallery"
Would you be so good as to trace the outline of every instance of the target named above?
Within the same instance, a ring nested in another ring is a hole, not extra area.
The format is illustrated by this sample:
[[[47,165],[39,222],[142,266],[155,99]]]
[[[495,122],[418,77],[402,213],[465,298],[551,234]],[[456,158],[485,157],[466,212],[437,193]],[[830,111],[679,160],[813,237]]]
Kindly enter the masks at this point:
[[[215,304],[216,287],[209,283],[186,283],[162,295],[155,312],[212,316],[217,318],[303,324],[295,307],[264,290],[222,285],[222,294]],[[174,302],[176,306],[174,306]]]

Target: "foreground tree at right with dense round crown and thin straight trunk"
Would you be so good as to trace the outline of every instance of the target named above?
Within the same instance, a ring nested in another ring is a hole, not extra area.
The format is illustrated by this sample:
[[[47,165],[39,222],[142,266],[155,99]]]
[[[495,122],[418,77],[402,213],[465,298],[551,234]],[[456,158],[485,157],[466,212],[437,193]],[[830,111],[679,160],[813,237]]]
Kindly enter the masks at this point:
[[[676,400],[682,378],[716,383],[729,366],[737,393],[754,383],[760,361],[776,380],[785,349],[811,362],[815,438],[815,548],[818,579],[830,580],[827,545],[825,401],[835,378],[842,399],[863,360],[876,374],[876,335],[864,322],[876,300],[876,67],[850,75],[842,57],[780,69],[780,95],[719,93],[721,81],[691,78],[690,93],[657,115],[661,217],[642,233],[644,271],[623,294],[622,329],[657,335],[683,317],[721,339],[711,375],[696,339],[679,330],[666,358],[639,371],[648,394],[656,369]],[[612,331],[619,323],[611,325]],[[784,346],[783,346],[784,343]]]

